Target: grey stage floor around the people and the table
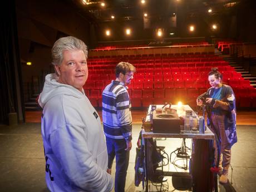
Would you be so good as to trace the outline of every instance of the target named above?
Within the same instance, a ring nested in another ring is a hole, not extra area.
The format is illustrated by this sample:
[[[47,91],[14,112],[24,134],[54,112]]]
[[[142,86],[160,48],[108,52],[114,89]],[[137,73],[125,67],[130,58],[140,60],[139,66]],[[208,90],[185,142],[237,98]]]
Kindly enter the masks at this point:
[[[135,146],[141,125],[133,126],[133,147],[127,172],[126,191],[139,192],[134,186]],[[256,126],[237,127],[238,143],[232,148],[232,185],[220,185],[219,191],[255,191]],[[48,191],[45,184],[45,159],[41,125],[0,125],[0,191]],[[231,169],[229,174],[231,181]],[[131,180],[131,181],[128,181]],[[226,189],[226,190],[225,190]],[[175,190],[178,191],[178,190]]]

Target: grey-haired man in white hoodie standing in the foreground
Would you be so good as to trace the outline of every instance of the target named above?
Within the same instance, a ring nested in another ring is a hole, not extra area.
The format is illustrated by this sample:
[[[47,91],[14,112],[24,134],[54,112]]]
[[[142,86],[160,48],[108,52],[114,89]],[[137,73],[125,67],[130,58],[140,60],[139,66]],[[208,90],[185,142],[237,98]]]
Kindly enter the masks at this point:
[[[56,73],[46,76],[38,100],[48,189],[111,191],[100,117],[83,91],[87,46],[75,37],[60,38],[52,47],[52,58]]]

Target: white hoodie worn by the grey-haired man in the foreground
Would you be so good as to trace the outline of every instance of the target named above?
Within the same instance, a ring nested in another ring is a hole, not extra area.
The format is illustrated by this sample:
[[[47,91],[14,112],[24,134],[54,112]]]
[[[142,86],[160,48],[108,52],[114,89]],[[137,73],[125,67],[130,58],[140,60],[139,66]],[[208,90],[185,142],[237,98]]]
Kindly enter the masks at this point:
[[[85,93],[46,76],[39,104],[46,183],[51,191],[111,191],[100,117]]]

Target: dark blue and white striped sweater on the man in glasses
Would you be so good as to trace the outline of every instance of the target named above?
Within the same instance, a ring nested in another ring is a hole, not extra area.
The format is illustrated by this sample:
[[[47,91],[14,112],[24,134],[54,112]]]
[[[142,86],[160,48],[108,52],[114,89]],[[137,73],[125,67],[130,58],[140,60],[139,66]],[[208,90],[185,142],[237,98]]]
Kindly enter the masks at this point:
[[[131,102],[123,83],[112,81],[102,92],[104,132],[112,139],[131,140]]]

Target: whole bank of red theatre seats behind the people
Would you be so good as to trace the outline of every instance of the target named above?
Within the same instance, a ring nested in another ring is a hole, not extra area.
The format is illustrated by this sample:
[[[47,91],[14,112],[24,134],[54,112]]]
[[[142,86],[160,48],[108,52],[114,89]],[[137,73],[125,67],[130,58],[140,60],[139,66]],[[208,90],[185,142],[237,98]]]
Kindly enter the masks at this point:
[[[116,57],[89,59],[89,75],[83,87],[95,107],[102,107],[102,90],[115,80],[115,66],[132,63],[137,72],[128,86],[132,107],[148,107],[178,101],[196,107],[196,98],[207,91],[208,73],[218,67],[225,84],[232,86],[238,107],[256,107],[256,91],[240,73],[215,55],[173,57]]]

